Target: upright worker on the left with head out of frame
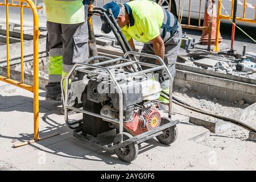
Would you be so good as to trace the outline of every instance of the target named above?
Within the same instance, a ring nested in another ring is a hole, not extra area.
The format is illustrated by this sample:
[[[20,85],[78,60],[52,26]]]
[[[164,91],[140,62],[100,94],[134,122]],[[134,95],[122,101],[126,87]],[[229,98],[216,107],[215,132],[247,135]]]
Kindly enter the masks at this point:
[[[88,24],[83,0],[43,0],[47,19],[49,82],[46,100],[61,100],[61,77],[88,59]]]

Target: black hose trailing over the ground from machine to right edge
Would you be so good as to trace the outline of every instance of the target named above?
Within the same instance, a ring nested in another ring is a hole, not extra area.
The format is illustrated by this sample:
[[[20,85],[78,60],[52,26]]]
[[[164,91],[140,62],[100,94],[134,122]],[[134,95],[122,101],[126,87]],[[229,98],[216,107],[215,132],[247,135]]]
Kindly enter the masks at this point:
[[[162,91],[163,92],[163,91]],[[164,96],[164,94],[160,94],[161,97],[165,98],[166,100],[169,100],[169,94],[164,92],[166,94],[166,96]],[[172,101],[181,106],[181,107],[185,107],[186,109],[189,109],[189,110],[193,110],[193,111],[196,111],[197,113],[201,113],[201,114],[205,114],[205,115],[209,115],[209,116],[212,116],[214,118],[218,118],[218,119],[223,119],[224,121],[229,121],[235,125],[238,125],[238,126],[241,126],[243,127],[244,129],[246,130],[249,130],[249,131],[253,131],[253,132],[256,132],[256,130],[249,126],[249,125],[246,125],[245,123],[242,123],[240,121],[238,121],[237,119],[233,119],[233,118],[229,118],[229,117],[225,117],[224,115],[218,115],[218,114],[213,114],[213,113],[209,113],[208,111],[204,111],[204,110],[201,110],[201,109],[197,109],[196,107],[194,106],[191,106],[191,105],[188,105],[187,103],[183,102],[183,101],[180,101],[178,100],[177,98],[175,97],[172,97]]]

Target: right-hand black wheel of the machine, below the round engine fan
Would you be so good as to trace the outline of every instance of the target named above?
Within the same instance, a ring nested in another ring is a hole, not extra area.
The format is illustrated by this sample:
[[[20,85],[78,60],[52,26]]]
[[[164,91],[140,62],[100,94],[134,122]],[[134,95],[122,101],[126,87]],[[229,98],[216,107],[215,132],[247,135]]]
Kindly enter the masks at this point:
[[[177,126],[174,125],[166,130],[163,130],[163,134],[156,137],[160,143],[171,144],[177,139]]]

